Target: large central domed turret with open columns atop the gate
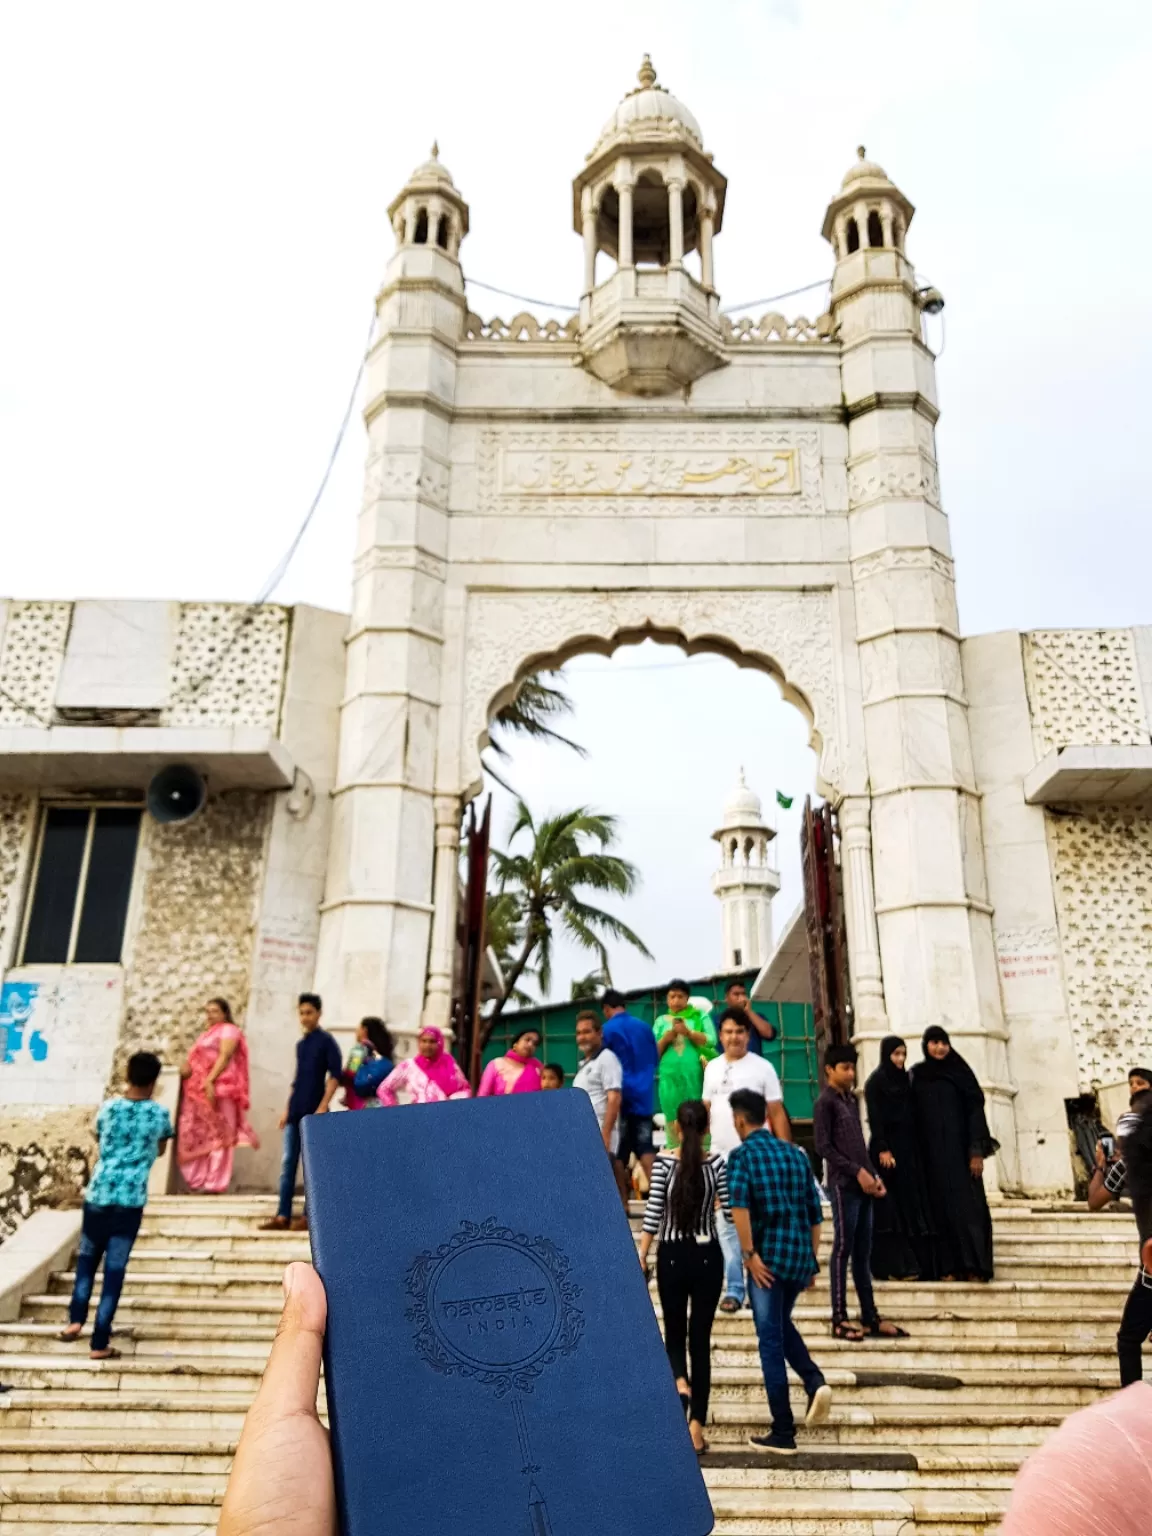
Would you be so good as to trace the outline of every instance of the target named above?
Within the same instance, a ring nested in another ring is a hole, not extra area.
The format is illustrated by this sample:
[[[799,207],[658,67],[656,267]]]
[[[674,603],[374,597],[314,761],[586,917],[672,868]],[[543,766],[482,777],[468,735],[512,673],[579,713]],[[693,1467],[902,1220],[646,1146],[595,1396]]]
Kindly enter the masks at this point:
[[[713,235],[725,189],[700,124],[657,84],[645,54],[637,89],[573,181],[573,220],[584,235],[581,352],[613,389],[670,395],[723,364]],[[699,280],[684,264],[694,250]],[[601,252],[616,269],[598,284]]]

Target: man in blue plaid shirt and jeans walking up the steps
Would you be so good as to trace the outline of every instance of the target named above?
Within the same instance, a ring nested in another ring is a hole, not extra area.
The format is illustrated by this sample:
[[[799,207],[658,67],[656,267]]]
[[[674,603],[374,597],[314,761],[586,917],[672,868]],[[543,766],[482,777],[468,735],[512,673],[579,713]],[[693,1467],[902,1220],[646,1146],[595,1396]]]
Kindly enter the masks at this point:
[[[796,1421],[788,1366],[808,1393],[805,1424],[823,1424],[833,1389],[793,1322],[793,1307],[819,1273],[820,1193],[806,1155],[765,1129],[768,1106],[748,1087],[728,1100],[740,1146],[728,1154],[728,1195],[748,1270],[748,1298],[760,1346],[760,1369],[773,1415],[771,1435],[750,1444],[777,1456],[796,1455]]]

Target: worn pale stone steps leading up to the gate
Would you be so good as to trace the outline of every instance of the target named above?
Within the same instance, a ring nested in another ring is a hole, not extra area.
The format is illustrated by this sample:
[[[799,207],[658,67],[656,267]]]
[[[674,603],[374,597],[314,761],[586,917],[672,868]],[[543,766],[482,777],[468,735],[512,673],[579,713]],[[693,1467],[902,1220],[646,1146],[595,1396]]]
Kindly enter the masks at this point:
[[[123,1358],[61,1344],[71,1273],[0,1324],[0,1527],[20,1536],[215,1530],[284,1264],[307,1236],[257,1232],[266,1198],[149,1203],[117,1316]],[[836,1389],[831,1421],[774,1462],[750,1315],[717,1316],[705,1476],[722,1536],[991,1536],[1015,1468],[1114,1392],[1132,1283],[1126,1215],[1006,1204],[991,1286],[882,1286],[912,1338],[828,1336],[826,1279],[797,1321]],[[797,1387],[797,1407],[802,1393]],[[637,1425],[636,1475],[644,1442]]]

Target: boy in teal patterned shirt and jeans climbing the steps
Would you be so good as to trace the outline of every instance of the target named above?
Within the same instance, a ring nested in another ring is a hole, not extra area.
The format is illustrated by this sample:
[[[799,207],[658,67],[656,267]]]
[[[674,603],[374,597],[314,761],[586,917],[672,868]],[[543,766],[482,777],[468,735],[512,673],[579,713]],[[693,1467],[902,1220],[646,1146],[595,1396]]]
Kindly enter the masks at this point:
[[[80,1338],[88,1318],[95,1272],[103,1256],[104,1286],[92,1327],[92,1359],[115,1359],[109,1346],[112,1318],[124,1284],[127,1256],[147,1200],[147,1175],[172,1137],[172,1117],[152,1101],[160,1058],[137,1051],[127,1063],[127,1089],[109,1098],[97,1115],[100,1160],[84,1192],[84,1221],[75,1260],[75,1284],[61,1339]]]

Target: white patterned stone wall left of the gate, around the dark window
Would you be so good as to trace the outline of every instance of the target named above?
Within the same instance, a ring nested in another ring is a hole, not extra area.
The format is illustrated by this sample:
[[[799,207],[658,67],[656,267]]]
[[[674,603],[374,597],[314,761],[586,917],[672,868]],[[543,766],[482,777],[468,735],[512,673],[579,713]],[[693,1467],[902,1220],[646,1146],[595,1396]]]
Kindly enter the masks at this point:
[[[266,1143],[238,1155],[237,1183],[269,1183],[295,995],[313,982],[346,627],[312,608],[0,604],[2,723],[48,725],[61,702],[158,707],[164,725],[275,731],[301,770],[290,791],[209,794],[186,823],[144,817],[118,966],[14,966],[38,803],[0,794],[0,982],[40,988],[20,1049],[0,1061],[0,1227],[78,1192],[94,1111],[126,1055],[155,1049],[178,1064],[214,995],[247,1028]],[[126,648],[124,630],[154,654]]]

